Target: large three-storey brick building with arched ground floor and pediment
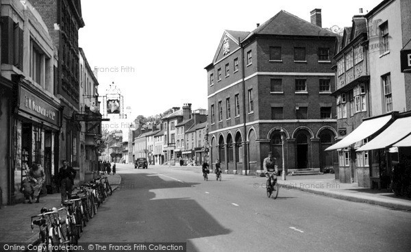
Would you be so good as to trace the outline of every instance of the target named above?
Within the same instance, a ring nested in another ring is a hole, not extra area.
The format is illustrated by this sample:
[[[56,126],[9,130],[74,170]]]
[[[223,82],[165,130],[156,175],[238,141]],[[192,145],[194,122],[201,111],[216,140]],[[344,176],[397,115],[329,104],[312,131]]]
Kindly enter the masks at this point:
[[[269,151],[282,167],[333,165],[334,46],[321,28],[281,11],[251,31],[225,30],[208,73],[210,158],[229,173],[258,173]]]

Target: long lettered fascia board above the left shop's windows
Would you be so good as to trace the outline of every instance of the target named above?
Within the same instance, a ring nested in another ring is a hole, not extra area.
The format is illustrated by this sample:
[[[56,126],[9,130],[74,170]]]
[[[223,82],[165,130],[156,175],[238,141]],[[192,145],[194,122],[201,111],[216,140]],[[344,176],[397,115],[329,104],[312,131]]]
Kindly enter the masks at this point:
[[[60,111],[36,95],[21,87],[20,110],[40,118],[47,123],[60,126]]]

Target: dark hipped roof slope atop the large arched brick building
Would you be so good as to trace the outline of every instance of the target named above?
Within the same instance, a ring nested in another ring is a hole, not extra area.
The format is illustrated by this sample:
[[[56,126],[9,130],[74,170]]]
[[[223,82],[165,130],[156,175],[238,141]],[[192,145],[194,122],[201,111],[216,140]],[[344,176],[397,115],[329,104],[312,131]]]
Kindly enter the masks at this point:
[[[289,12],[281,10],[275,16],[254,29],[253,34],[288,35],[288,36],[336,36],[332,31],[321,28],[299,18]],[[247,40],[245,38],[245,40]]]

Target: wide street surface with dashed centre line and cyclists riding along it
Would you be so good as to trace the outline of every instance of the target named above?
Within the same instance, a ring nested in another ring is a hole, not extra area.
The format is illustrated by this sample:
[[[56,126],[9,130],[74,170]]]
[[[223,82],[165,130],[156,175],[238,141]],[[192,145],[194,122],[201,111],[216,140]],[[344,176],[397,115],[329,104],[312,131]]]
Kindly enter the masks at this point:
[[[187,251],[410,251],[411,214],[280,190],[264,177],[204,181],[192,167],[118,164],[122,184],[79,242],[187,242]]]

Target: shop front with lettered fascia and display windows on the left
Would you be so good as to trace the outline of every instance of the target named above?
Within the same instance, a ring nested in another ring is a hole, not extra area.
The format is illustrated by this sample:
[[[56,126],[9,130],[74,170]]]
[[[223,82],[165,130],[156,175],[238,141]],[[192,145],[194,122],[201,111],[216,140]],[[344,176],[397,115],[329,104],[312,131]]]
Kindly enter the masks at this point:
[[[57,189],[54,175],[58,172],[60,103],[43,92],[23,84],[18,88],[18,110],[14,121],[14,194],[13,201],[23,201],[19,192],[32,164],[45,170],[42,193]]]

